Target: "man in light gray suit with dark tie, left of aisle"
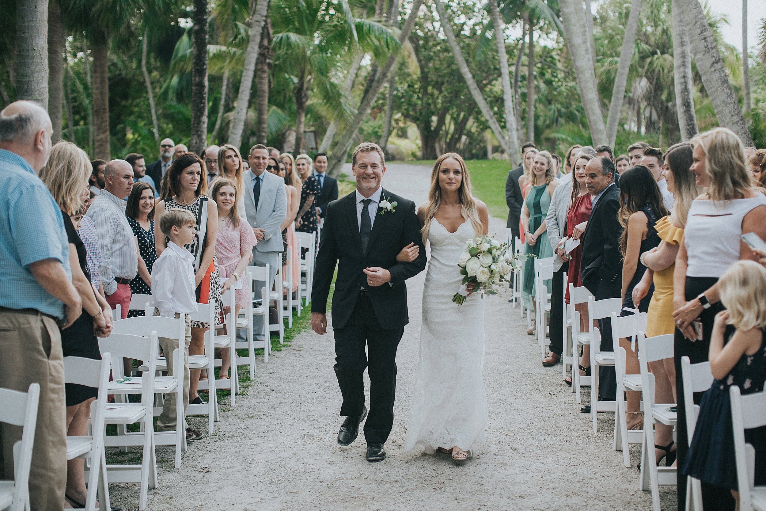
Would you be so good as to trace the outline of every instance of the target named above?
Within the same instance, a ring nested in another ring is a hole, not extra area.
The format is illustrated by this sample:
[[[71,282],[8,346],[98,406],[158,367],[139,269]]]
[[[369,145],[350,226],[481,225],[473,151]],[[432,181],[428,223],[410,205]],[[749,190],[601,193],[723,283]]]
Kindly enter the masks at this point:
[[[287,216],[285,182],[279,176],[266,172],[269,152],[263,144],[250,148],[248,160],[250,172],[244,173],[244,211],[258,241],[253,247],[253,261],[250,264],[269,265],[268,288],[271,289],[277,267],[282,264],[280,253],[284,251],[280,225]],[[256,289],[260,289],[264,283],[256,285]],[[262,332],[262,320],[262,316],[254,318],[254,332]],[[255,335],[260,339],[260,333]]]

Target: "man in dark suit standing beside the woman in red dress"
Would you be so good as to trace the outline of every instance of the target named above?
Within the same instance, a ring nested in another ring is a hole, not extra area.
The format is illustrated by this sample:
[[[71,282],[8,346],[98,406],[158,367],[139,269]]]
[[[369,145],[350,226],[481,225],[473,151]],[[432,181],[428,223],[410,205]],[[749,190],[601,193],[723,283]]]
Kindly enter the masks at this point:
[[[585,184],[591,194],[593,210],[582,235],[582,283],[596,300],[619,298],[622,292],[620,234],[623,228],[617,218],[620,192],[614,184],[612,160],[604,156],[591,159],[585,167]],[[611,352],[611,319],[599,319],[598,323],[601,350]],[[598,379],[598,397],[613,401],[617,389],[614,367],[602,366]],[[586,413],[590,412],[590,407],[584,409],[587,409]]]

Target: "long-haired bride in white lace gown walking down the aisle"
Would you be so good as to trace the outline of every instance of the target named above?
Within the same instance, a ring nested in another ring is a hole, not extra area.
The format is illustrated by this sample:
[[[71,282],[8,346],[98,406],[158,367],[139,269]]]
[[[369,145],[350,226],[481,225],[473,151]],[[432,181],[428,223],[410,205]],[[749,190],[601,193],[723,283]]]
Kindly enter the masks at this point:
[[[471,195],[470,176],[460,155],[448,152],[437,159],[428,201],[417,215],[424,238],[430,241],[430,260],[404,448],[414,454],[440,450],[463,461],[485,440],[484,303],[478,294],[471,294],[459,306],[452,296],[462,279],[457,258],[466,241],[487,232],[489,215],[486,205]]]

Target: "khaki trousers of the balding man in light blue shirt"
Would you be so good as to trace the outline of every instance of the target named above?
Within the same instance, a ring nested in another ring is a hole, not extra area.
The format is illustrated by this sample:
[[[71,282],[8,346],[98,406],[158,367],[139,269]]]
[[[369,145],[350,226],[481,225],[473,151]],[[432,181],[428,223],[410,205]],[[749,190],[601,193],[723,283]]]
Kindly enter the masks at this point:
[[[32,310],[0,308],[0,387],[28,391],[40,384],[29,501],[32,511],[64,508],[67,485],[67,411],[61,331],[54,319]],[[0,479],[13,480],[13,445],[21,427],[0,424]]]

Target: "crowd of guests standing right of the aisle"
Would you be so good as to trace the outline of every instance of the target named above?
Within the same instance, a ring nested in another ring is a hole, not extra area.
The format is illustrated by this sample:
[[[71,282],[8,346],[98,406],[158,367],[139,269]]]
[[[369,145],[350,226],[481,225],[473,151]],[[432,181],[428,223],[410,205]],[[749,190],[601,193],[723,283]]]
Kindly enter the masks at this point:
[[[595,300],[620,298],[620,316],[647,313],[647,336],[675,335],[673,359],[649,365],[655,401],[675,403],[678,417],[676,441],[673,427],[656,425],[656,463],[679,467],[679,510],[686,504],[681,474],[702,481],[705,509],[735,509],[728,387],[749,394],[762,391],[766,380],[766,253],[741,240],[745,233],[766,239],[766,149],[746,148],[732,131],[716,128],[665,152],[636,142],[617,158],[609,146],[575,145],[558,174],[557,158],[547,151],[532,143],[523,151],[506,182],[507,228],[527,254],[522,297],[528,308],[534,306],[534,259],[554,257],[552,282],[545,281],[552,290],[550,352],[542,365],[561,360],[562,303],[569,303],[570,286],[586,287]],[[572,247],[571,240],[579,243]],[[575,310],[581,331],[588,331],[587,303]],[[597,326],[601,350],[611,352],[611,320],[599,319]],[[636,343],[620,339],[620,347],[626,373],[637,374]],[[590,375],[589,346],[576,355],[573,370]],[[702,408],[691,447],[685,409],[692,404],[679,390],[684,356],[692,364],[709,361],[716,378],[695,397]],[[599,368],[598,399],[614,401],[614,374],[614,367]],[[571,385],[571,378],[565,381]],[[627,428],[641,429],[640,392],[626,398]],[[748,431],[748,442],[757,452],[755,483],[764,484],[766,431]]]

